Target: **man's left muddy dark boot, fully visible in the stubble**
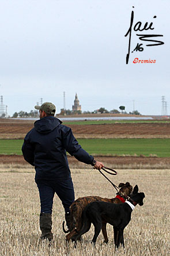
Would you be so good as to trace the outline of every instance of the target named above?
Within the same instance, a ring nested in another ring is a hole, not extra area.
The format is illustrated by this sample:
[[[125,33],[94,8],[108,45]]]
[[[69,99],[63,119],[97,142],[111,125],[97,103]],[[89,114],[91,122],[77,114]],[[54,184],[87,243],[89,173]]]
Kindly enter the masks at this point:
[[[40,238],[48,239],[49,241],[52,240],[53,234],[51,232],[52,228],[52,220],[51,220],[51,213],[40,213],[40,229],[41,229],[41,236]]]

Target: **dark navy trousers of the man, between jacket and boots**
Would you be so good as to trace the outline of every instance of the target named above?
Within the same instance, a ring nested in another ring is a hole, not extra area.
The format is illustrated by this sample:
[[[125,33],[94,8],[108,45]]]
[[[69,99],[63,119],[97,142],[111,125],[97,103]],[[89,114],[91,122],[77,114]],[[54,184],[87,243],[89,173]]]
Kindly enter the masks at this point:
[[[71,177],[67,180],[37,180],[39,188],[41,213],[52,213],[54,194],[61,199],[65,212],[70,212],[70,205],[74,202],[74,187]]]

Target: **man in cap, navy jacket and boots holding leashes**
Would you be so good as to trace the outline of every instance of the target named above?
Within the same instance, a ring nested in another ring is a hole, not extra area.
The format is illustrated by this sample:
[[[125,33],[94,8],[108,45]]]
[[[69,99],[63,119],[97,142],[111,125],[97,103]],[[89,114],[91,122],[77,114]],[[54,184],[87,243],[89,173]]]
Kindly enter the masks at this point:
[[[74,202],[74,187],[71,180],[66,151],[78,161],[101,169],[103,164],[95,161],[78,144],[69,127],[54,117],[55,105],[45,102],[35,106],[39,110],[40,120],[27,133],[22,145],[24,159],[35,166],[35,182],[39,189],[41,213],[41,239],[52,240],[51,232],[52,203],[54,194],[59,196],[65,208],[66,224],[69,227],[70,205]]]

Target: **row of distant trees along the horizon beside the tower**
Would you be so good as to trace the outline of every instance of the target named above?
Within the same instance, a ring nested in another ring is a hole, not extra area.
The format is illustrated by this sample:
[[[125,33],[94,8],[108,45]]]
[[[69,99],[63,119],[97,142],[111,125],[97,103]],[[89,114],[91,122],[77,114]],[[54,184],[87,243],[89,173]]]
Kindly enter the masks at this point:
[[[124,113],[124,114],[139,114],[140,115],[140,113],[138,112],[138,110],[135,110],[135,111],[133,111],[133,112],[129,112],[129,113],[127,113],[126,111],[125,111],[125,107],[124,106],[120,106],[119,107],[119,109],[120,109],[120,111],[121,111],[121,113]],[[84,111],[84,112],[81,112],[81,110],[78,110],[78,111],[75,111],[75,112],[73,112],[72,110],[70,110],[70,109],[66,109],[66,110],[64,110],[64,109],[61,109],[61,115],[66,115],[66,116],[69,116],[69,115],[71,115],[71,114],[103,114],[103,113],[111,113],[111,114],[120,114],[120,111],[119,110],[117,110],[117,109],[113,109],[113,110],[111,110],[111,111],[108,111],[107,109],[105,109],[105,107],[100,107],[100,109],[97,109],[97,110],[94,110],[94,111],[92,111],[92,112],[90,112],[90,111]],[[21,117],[21,118],[27,118],[27,117],[39,117],[39,112],[37,111],[37,110],[31,110],[31,112],[24,112],[24,111],[20,111],[20,112],[15,112],[14,114],[13,114],[13,117],[14,118],[17,118],[17,117]]]

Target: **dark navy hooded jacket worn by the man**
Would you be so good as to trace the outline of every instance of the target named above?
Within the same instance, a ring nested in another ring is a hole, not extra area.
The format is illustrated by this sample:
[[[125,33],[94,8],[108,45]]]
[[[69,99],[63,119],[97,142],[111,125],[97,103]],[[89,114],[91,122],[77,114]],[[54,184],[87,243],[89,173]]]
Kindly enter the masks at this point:
[[[70,177],[66,151],[78,161],[92,164],[89,155],[74,138],[71,128],[55,117],[37,120],[22,145],[24,159],[35,166],[35,180],[63,180]]]

